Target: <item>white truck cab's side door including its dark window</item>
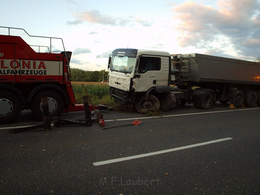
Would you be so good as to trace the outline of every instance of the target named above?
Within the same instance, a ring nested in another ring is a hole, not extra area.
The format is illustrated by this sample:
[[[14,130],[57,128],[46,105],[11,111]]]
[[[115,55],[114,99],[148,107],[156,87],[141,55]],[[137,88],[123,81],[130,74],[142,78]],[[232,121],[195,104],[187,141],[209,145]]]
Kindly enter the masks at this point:
[[[136,78],[136,92],[144,92],[149,88],[157,86],[157,74],[161,69],[161,58],[153,56],[142,56],[139,58]]]

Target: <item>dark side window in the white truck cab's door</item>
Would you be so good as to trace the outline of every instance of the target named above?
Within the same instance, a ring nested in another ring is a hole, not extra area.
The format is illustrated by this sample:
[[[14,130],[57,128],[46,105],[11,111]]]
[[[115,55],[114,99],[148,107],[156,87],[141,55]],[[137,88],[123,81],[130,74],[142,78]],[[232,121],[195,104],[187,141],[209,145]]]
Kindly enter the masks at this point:
[[[139,59],[138,73],[146,73],[151,70],[161,70],[161,58],[141,57]]]

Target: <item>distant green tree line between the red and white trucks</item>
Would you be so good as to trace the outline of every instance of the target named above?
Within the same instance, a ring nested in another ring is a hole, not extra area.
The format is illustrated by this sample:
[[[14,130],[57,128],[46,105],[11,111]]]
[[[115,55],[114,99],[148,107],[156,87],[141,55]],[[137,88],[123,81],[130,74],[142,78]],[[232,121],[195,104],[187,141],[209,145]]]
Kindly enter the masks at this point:
[[[71,68],[71,81],[83,81],[83,82],[102,82],[103,76],[104,81],[107,80],[108,71],[107,70],[82,70],[79,68]]]

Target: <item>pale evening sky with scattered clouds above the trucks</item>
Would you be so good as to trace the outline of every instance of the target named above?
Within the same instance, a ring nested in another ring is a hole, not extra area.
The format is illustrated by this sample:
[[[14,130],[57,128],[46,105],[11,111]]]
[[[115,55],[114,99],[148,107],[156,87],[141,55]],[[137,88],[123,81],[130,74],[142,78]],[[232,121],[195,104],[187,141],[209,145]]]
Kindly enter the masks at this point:
[[[72,51],[71,68],[107,69],[117,48],[249,61],[260,55],[260,0],[1,0],[0,5],[0,26],[62,38]]]

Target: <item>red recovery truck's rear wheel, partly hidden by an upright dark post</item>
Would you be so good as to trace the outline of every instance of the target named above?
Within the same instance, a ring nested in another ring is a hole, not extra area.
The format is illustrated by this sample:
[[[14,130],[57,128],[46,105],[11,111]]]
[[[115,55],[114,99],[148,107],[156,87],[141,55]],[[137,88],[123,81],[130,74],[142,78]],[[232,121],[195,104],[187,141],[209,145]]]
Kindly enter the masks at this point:
[[[36,118],[43,120],[42,97],[48,97],[50,117],[60,116],[64,109],[64,101],[60,94],[54,91],[43,91],[38,93],[32,100],[32,113]]]

